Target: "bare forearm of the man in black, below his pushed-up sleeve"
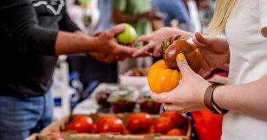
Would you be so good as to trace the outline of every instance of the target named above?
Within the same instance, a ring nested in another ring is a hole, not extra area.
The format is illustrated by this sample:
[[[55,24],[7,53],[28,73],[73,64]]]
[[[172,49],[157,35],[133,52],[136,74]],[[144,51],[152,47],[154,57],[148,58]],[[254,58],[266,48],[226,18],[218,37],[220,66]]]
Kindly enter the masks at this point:
[[[55,42],[55,55],[73,55],[94,51],[95,40],[81,31],[59,31]]]

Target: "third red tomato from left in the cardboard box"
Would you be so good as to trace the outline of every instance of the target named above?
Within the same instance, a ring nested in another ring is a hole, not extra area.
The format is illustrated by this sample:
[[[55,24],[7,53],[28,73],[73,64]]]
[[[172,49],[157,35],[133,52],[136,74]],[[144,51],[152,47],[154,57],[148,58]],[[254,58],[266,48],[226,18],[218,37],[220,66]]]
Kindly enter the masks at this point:
[[[142,133],[147,132],[151,125],[152,120],[148,113],[136,113],[131,115],[126,128],[133,133]]]

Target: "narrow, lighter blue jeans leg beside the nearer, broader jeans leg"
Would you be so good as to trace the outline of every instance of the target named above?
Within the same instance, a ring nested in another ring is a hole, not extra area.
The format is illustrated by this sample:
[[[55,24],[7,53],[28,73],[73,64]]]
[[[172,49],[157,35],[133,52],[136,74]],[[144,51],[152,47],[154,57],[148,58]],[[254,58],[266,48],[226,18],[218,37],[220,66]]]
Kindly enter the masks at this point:
[[[53,97],[51,95],[51,90],[49,90],[49,92],[47,92],[47,94],[45,94],[43,98],[44,98],[44,110],[42,111],[42,116],[37,126],[31,129],[31,133],[40,132],[42,128],[48,126],[53,122],[54,102],[53,102]]]

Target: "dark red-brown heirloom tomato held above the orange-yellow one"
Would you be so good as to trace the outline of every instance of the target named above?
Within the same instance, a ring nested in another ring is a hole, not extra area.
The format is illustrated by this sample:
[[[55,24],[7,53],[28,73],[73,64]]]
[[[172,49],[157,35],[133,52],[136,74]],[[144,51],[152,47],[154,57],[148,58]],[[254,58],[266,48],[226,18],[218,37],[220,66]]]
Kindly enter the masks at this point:
[[[199,72],[203,63],[203,56],[199,48],[193,41],[193,38],[184,38],[183,36],[173,35],[162,42],[162,56],[166,66],[172,69],[178,69],[176,57],[183,53],[188,61],[188,65],[194,72]]]

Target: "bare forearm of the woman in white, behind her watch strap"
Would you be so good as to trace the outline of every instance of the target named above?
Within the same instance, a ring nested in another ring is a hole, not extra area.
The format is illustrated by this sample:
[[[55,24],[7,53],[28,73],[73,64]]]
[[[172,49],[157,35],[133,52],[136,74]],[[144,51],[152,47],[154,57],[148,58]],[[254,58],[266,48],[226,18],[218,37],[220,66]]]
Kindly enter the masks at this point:
[[[267,120],[266,83],[267,76],[242,85],[217,87],[214,102],[223,109]]]

